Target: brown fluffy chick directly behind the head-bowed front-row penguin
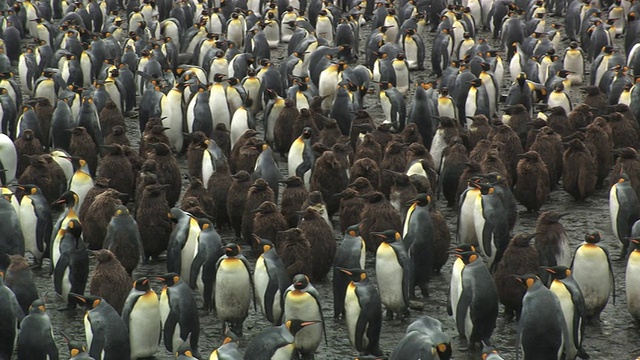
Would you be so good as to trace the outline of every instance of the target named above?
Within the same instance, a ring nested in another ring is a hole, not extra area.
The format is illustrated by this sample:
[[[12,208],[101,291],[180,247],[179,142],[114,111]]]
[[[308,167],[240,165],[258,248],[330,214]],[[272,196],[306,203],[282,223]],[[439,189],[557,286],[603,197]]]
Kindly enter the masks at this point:
[[[278,233],[278,255],[282,259],[289,279],[296,274],[305,274],[311,277],[313,274],[311,260],[311,244],[298,228],[281,231]]]

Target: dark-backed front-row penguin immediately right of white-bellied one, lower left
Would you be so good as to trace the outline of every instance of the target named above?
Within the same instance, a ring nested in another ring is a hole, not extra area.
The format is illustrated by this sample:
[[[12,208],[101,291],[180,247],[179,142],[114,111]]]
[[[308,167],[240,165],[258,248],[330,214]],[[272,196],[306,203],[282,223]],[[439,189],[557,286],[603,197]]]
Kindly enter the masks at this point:
[[[182,342],[189,339],[191,349],[198,354],[200,317],[189,285],[176,273],[156,276],[156,279],[165,284],[160,295],[160,320],[165,348],[173,353]]]

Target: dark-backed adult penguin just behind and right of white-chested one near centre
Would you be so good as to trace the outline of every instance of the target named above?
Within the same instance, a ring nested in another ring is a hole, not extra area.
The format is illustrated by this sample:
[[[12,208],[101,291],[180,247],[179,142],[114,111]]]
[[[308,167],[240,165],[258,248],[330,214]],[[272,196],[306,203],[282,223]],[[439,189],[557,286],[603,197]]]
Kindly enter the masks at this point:
[[[403,243],[411,263],[409,294],[414,296],[415,287],[419,286],[423,298],[429,296],[428,284],[435,262],[435,237],[430,202],[431,197],[427,194],[419,194],[411,200],[402,230]]]

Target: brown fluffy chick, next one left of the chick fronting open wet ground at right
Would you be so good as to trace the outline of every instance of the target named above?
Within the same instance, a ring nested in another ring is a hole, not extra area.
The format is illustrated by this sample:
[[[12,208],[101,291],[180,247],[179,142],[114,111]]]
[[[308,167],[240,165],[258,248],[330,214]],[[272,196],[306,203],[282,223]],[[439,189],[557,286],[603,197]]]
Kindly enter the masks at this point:
[[[527,208],[527,211],[537,212],[549,199],[551,191],[549,172],[536,151],[528,151],[521,154],[519,158],[519,180],[514,195]]]

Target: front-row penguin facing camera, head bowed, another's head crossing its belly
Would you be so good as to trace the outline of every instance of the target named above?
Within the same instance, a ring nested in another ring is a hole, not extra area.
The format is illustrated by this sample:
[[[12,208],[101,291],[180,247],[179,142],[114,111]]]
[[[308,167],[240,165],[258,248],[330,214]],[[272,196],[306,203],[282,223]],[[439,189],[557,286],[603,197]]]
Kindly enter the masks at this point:
[[[283,321],[299,319],[311,321],[315,324],[307,326],[296,333],[294,344],[296,351],[303,359],[313,359],[314,353],[326,329],[322,307],[320,306],[320,295],[316,288],[309,282],[309,278],[304,274],[297,274],[293,277],[293,284],[287,288],[282,298],[284,301]]]

